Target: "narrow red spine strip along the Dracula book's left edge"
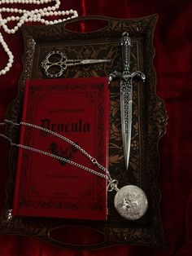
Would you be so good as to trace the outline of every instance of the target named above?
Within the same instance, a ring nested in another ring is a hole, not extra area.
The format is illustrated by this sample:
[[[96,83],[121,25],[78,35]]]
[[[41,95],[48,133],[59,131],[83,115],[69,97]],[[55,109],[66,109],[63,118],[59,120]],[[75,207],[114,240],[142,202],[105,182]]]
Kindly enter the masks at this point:
[[[26,120],[27,117],[27,103],[28,103],[28,91],[29,91],[29,80],[25,82],[24,88],[24,102],[23,102],[23,113],[22,113],[22,121]],[[20,126],[20,144],[24,144],[24,133],[25,127]],[[19,197],[20,197],[20,174],[22,168],[22,161],[23,161],[23,148],[19,148],[18,152],[18,160],[17,166],[15,170],[15,189],[14,189],[14,198],[13,198],[13,215],[19,214]]]

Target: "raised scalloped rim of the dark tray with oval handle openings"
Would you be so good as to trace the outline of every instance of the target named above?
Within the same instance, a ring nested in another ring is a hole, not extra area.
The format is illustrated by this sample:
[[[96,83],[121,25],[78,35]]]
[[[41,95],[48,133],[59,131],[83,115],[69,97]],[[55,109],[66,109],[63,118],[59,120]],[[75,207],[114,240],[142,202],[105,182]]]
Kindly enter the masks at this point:
[[[107,20],[108,25],[103,29],[99,29],[94,33],[75,33],[65,29],[66,24],[70,24],[75,21],[81,20]],[[159,201],[160,193],[157,184],[157,175],[159,173],[159,152],[158,143],[159,139],[165,134],[165,126],[167,123],[167,115],[164,110],[164,103],[162,99],[155,93],[155,69],[152,61],[155,55],[155,50],[152,44],[155,23],[157,15],[151,15],[144,18],[134,20],[120,20],[115,18],[109,18],[105,16],[85,16],[79,17],[73,20],[68,20],[61,24],[39,26],[39,27],[24,27],[24,71],[20,77],[18,95],[11,103],[7,111],[7,118],[18,121],[21,115],[21,106],[23,102],[24,81],[33,77],[33,62],[36,49],[36,42],[46,40],[51,42],[53,40],[63,41],[66,36],[71,40],[90,40],[91,38],[115,38],[121,35],[124,31],[128,31],[137,37],[142,37],[145,52],[145,70],[147,80],[147,135],[148,135],[148,150],[142,152],[146,159],[148,182],[143,186],[148,186],[151,196],[151,206],[148,217],[143,223],[140,221],[126,222],[122,219],[106,222],[94,222],[94,221],[80,221],[80,220],[63,220],[52,218],[13,218],[11,215],[11,204],[14,191],[15,181],[15,163],[17,159],[17,148],[11,148],[10,153],[10,169],[11,177],[7,183],[7,201],[4,206],[4,210],[0,215],[0,234],[15,234],[24,236],[34,236],[43,241],[48,241],[53,245],[59,245],[68,249],[98,249],[111,245],[145,245],[159,249],[165,249],[167,247],[164,231],[161,224],[159,214]],[[144,100],[144,99],[142,99]],[[142,120],[143,121],[143,120]],[[7,126],[7,134],[18,141],[19,129],[9,125]],[[144,147],[145,148],[145,147]],[[149,150],[150,149],[150,150]],[[50,230],[55,227],[68,227],[72,225],[77,227],[90,227],[91,229],[101,232],[105,241],[94,245],[72,245],[65,244],[61,241],[53,241],[50,239]]]

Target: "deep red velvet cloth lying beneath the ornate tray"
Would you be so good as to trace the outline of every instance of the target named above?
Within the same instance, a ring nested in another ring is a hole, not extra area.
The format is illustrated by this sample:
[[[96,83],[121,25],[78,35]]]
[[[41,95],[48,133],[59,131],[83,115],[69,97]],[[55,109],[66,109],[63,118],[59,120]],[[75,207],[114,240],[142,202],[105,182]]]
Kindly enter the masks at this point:
[[[96,251],[60,249],[28,237],[0,236],[0,256],[98,256],[153,255],[186,256],[192,254],[192,189],[191,189],[191,39],[190,0],[65,0],[62,9],[76,9],[79,15],[107,15],[136,18],[159,14],[155,29],[155,60],[157,94],[164,99],[168,112],[167,135],[160,140],[161,168],[159,188],[162,194],[161,216],[168,250],[131,245],[114,246]],[[86,28],[85,28],[86,29]],[[15,98],[22,72],[24,44],[21,33],[2,33],[15,55],[11,71],[0,77],[0,121],[8,104]],[[7,56],[0,47],[0,67]],[[9,145],[0,140],[0,210],[5,200],[8,179]]]

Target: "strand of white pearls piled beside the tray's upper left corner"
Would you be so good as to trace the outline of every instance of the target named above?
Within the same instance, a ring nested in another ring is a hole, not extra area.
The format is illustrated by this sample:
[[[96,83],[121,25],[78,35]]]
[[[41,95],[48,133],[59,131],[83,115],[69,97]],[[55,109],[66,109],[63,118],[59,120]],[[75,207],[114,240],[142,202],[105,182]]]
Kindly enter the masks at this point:
[[[4,29],[6,33],[15,33],[22,24],[25,22],[40,22],[41,24],[57,24],[60,23],[64,20],[69,20],[72,18],[76,18],[78,16],[77,11],[73,11],[72,9],[70,11],[57,11],[60,6],[60,0],[1,0],[0,1],[0,6],[2,4],[13,4],[13,3],[21,3],[21,4],[36,4],[36,5],[41,5],[49,2],[55,2],[55,5],[52,7],[44,7],[40,9],[33,9],[32,11],[24,10],[24,9],[18,9],[18,8],[6,8],[2,7],[0,8],[0,29]],[[2,18],[2,13],[7,12],[7,13],[15,13],[19,14],[20,16],[17,15],[10,15],[7,16],[7,18],[3,19]],[[67,19],[58,19],[58,20],[45,20],[44,17],[49,17],[49,16],[65,16],[68,15]],[[9,29],[7,27],[7,23],[9,21],[18,21],[18,23],[13,27],[12,29]],[[2,48],[8,55],[8,61],[5,66],[5,68],[0,69],[0,76],[6,74],[12,67],[13,61],[14,61],[14,56],[7,46],[7,43],[5,42],[4,38],[2,37],[2,33],[0,32],[0,43],[2,45]]]

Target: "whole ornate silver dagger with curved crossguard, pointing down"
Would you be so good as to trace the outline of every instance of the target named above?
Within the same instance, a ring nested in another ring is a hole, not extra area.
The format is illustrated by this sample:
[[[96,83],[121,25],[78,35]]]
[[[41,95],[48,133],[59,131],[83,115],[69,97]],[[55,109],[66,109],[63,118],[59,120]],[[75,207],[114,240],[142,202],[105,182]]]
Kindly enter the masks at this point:
[[[146,76],[140,71],[130,72],[131,38],[129,33],[124,32],[120,39],[123,73],[113,72],[109,75],[109,82],[114,78],[120,78],[120,117],[124,148],[124,161],[126,169],[129,166],[129,153],[132,130],[132,104],[133,104],[133,77],[141,77],[144,82]]]

